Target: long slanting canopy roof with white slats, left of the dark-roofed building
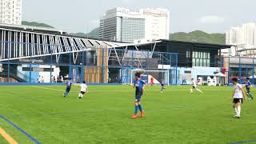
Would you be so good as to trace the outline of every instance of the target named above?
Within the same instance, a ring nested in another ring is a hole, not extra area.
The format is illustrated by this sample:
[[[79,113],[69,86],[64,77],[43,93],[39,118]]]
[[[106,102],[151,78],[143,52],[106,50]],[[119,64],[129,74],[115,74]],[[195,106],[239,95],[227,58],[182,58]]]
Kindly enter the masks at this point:
[[[0,61],[78,53],[96,49],[142,46],[155,42],[126,43],[75,37],[63,30],[0,25]],[[137,48],[137,47],[136,47]]]

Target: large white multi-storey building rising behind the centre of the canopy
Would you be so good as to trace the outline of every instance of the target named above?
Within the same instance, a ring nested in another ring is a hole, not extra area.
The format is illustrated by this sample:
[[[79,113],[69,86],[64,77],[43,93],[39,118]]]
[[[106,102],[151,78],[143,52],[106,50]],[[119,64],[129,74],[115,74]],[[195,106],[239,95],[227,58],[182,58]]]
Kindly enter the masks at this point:
[[[100,38],[120,42],[169,39],[169,15],[164,9],[108,10],[100,21]]]

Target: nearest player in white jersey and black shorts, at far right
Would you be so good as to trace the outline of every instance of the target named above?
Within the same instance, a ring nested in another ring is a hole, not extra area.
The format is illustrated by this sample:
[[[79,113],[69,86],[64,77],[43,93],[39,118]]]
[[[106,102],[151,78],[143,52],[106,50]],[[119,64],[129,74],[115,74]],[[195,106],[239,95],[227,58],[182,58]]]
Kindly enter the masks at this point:
[[[233,98],[233,108],[235,111],[234,118],[240,118],[241,115],[241,104],[242,100],[246,100],[246,94],[242,90],[242,85],[238,83],[238,78],[232,78],[232,82],[234,84],[234,92],[231,95],[231,98]]]

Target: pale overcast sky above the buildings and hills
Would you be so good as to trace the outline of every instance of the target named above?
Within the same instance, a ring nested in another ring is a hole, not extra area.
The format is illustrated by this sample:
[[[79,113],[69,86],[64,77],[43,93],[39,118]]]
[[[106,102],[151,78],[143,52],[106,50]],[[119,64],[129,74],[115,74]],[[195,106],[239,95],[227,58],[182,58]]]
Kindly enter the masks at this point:
[[[87,32],[99,25],[106,10],[170,10],[170,32],[204,30],[224,33],[230,26],[256,22],[256,0],[22,0],[22,20],[45,22],[70,32]]]

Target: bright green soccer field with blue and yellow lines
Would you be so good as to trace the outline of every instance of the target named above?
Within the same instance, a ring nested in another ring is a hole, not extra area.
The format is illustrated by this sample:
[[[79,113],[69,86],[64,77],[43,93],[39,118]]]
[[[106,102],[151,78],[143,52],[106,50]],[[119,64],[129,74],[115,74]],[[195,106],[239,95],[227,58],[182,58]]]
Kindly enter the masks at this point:
[[[161,94],[160,86],[148,86],[142,96],[145,118],[131,119],[131,86],[89,86],[82,100],[78,87],[63,98],[65,86],[0,86],[0,127],[25,144],[33,138],[47,144],[256,143],[256,102],[244,102],[242,118],[234,119],[232,87],[199,89],[204,93],[169,86]],[[0,136],[0,143],[7,141]]]

